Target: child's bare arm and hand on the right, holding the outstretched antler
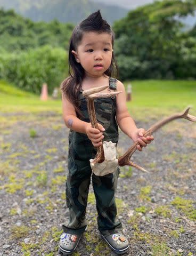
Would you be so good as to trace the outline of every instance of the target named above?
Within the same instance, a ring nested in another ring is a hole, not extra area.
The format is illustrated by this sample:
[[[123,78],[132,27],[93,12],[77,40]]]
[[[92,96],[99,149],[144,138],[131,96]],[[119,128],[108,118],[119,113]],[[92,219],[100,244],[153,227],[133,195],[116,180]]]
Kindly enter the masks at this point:
[[[140,145],[137,146],[138,150],[142,150],[142,147],[146,147],[153,140],[153,136],[143,137],[145,130],[143,128],[138,129],[133,118],[129,115],[126,106],[126,92],[123,83],[118,81],[117,91],[122,93],[117,95],[117,122],[120,129],[128,135],[134,142],[138,141]]]

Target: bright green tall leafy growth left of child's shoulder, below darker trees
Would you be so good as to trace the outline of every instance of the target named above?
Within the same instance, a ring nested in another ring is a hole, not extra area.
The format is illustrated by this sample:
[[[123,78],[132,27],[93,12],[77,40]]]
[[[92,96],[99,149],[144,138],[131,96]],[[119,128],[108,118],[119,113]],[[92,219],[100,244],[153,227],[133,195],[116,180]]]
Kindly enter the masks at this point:
[[[40,94],[43,83],[47,83],[48,92],[52,93],[67,75],[68,54],[60,47],[45,45],[0,56],[0,78],[36,94]]]

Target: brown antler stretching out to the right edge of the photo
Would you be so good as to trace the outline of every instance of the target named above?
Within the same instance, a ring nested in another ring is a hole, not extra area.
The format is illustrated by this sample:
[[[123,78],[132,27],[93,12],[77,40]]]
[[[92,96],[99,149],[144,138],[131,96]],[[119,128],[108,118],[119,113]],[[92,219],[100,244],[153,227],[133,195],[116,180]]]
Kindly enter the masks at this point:
[[[148,135],[152,134],[153,132],[157,131],[161,126],[164,126],[165,124],[175,120],[175,119],[178,119],[178,118],[184,118],[184,119],[187,119],[191,122],[196,122],[196,116],[192,116],[189,113],[189,110],[190,110],[190,107],[187,107],[185,109],[185,111],[183,113],[177,113],[177,114],[174,114],[174,115],[171,115],[165,119],[162,119],[161,121],[155,123],[154,125],[152,125],[150,127],[150,129],[148,131],[145,132],[144,134],[144,137],[147,137]],[[130,161],[130,157],[132,157],[132,155],[134,154],[134,152],[137,150],[137,145],[139,143],[138,142],[135,142],[127,151],[126,153],[119,157],[118,159],[118,164],[119,166],[124,166],[124,165],[131,165],[131,166],[134,166],[136,167],[137,169],[139,170],[142,170],[142,171],[145,171],[147,172],[145,169],[143,169],[143,167],[141,166],[138,166],[137,164],[133,163],[132,161]]]

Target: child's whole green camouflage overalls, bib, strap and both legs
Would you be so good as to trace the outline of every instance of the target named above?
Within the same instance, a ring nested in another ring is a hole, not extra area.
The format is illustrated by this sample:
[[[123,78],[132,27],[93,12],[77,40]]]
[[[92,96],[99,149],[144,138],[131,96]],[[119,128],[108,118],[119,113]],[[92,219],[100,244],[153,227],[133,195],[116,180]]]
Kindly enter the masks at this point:
[[[109,89],[116,90],[116,79],[109,78]],[[89,122],[86,99],[82,92],[79,94],[79,108],[84,117],[80,118]],[[95,111],[97,122],[105,128],[104,140],[118,142],[118,126],[116,122],[116,97],[96,99]],[[85,219],[88,188],[91,181],[96,198],[97,223],[102,234],[110,233],[110,230],[120,229],[121,223],[116,222],[115,190],[119,176],[119,168],[114,173],[103,177],[92,173],[89,159],[96,155],[96,148],[86,134],[70,130],[69,133],[69,174],[66,183],[67,206],[70,211],[68,225],[63,225],[67,233],[81,234],[84,232],[87,222]]]

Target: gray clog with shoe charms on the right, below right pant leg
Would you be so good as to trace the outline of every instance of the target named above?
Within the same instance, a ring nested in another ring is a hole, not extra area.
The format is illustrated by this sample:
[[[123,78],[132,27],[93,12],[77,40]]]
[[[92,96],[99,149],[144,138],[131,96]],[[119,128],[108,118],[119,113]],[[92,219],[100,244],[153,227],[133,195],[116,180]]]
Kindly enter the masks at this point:
[[[110,248],[117,254],[123,254],[129,249],[128,239],[122,233],[115,233],[111,235],[102,235]]]

